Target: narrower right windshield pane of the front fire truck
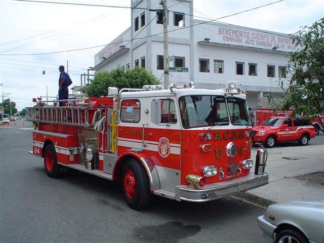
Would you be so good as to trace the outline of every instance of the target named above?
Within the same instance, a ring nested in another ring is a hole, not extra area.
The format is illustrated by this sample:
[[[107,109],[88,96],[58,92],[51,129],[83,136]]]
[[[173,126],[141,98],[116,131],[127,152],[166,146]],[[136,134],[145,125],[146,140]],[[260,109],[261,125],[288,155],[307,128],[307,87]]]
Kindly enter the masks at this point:
[[[248,105],[245,99],[226,97],[231,123],[251,126]]]

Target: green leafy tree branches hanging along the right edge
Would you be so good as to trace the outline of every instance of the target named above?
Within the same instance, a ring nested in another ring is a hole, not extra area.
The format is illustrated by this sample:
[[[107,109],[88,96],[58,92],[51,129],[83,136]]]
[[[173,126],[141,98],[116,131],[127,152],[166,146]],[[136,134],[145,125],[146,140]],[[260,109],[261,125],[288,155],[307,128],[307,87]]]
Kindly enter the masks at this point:
[[[279,104],[273,104],[273,96],[268,100],[276,109],[293,108],[293,116],[319,117],[324,114],[324,18],[309,27],[301,27],[292,38],[297,43],[297,51],[291,54],[286,71],[288,88]],[[280,80],[282,89],[284,82],[285,79]]]

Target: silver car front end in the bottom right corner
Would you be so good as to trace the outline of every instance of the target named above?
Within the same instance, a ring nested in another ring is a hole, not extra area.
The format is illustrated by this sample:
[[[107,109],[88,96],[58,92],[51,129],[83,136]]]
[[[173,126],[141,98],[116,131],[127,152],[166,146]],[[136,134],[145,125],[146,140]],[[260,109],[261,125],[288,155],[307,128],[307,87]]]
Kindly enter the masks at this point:
[[[272,204],[258,225],[269,242],[323,243],[324,198]]]

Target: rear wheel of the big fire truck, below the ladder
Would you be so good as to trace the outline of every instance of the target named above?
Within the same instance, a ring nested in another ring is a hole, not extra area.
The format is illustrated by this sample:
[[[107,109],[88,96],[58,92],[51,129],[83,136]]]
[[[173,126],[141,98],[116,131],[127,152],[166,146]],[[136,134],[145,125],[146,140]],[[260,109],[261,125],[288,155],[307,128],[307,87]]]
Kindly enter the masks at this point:
[[[57,178],[62,175],[62,166],[57,164],[56,151],[53,144],[48,144],[45,147],[44,167],[49,177]]]

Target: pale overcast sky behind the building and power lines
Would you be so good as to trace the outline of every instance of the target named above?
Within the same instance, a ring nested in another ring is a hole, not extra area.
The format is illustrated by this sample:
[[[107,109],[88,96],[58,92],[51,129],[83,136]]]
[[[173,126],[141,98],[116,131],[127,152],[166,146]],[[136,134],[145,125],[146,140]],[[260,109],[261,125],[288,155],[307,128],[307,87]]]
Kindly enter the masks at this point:
[[[47,1],[47,0],[45,0]],[[50,0],[48,0],[50,1]],[[149,1],[149,0],[146,0]],[[168,0],[170,4],[178,0]],[[130,6],[129,0],[52,0]],[[152,0],[155,4],[159,0]],[[219,18],[276,1],[193,0],[194,15]],[[294,33],[324,16],[322,0],[288,1],[222,19],[223,22],[282,33]],[[88,48],[108,44],[131,25],[129,9],[69,6],[0,1],[1,54],[35,54]],[[11,50],[12,49],[12,50]],[[94,66],[94,55],[102,47],[49,55],[0,56],[1,95],[9,95],[18,110],[32,104],[33,97],[56,96],[58,66],[69,63],[74,85],[80,73]],[[42,71],[46,74],[43,75]],[[71,87],[70,87],[71,88]]]

